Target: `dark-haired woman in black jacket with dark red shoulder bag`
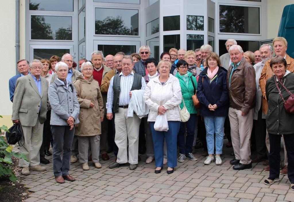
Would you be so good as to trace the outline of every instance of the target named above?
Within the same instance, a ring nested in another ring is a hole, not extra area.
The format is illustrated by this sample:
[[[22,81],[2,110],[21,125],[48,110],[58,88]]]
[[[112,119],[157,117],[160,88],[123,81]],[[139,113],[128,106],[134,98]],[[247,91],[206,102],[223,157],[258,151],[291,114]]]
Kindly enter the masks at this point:
[[[287,62],[283,57],[275,56],[270,60],[274,76],[265,85],[268,100],[266,126],[270,139],[270,176],[264,184],[273,184],[280,180],[280,142],[283,135],[288,156],[288,179],[291,183],[290,189],[294,190],[294,114],[288,113],[284,106],[284,101],[290,97],[285,88],[294,92],[294,74],[286,70],[286,67]]]

